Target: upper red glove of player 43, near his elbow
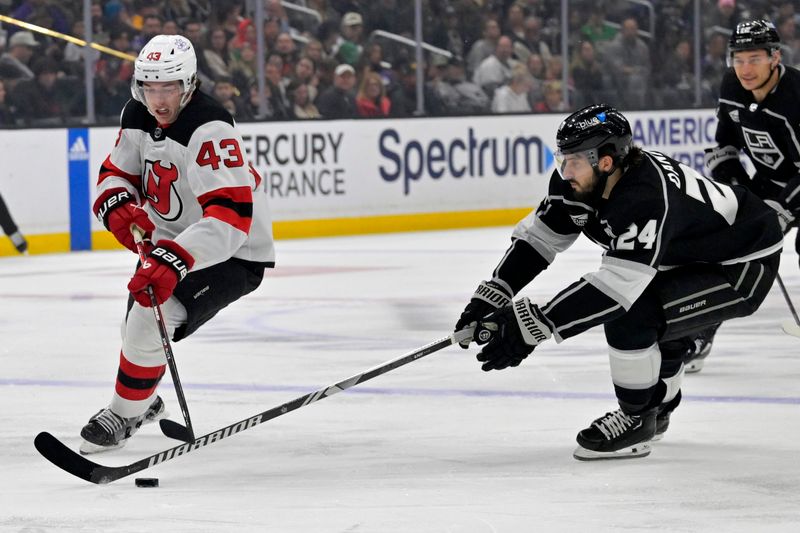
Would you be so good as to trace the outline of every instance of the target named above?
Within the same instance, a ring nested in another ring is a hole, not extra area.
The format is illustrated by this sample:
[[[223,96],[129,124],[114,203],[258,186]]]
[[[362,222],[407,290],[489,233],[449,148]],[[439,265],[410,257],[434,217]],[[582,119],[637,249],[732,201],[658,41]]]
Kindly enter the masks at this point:
[[[131,224],[136,224],[149,239],[156,229],[144,209],[136,203],[136,198],[125,189],[111,189],[103,193],[94,203],[94,214],[114,238],[125,248],[136,253]]]

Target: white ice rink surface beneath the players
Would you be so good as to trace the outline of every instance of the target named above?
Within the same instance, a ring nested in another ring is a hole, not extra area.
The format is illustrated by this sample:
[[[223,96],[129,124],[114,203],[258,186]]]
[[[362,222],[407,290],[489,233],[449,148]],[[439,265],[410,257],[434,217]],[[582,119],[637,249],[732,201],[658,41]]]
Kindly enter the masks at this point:
[[[175,344],[204,434],[446,336],[510,228],[280,241],[262,287]],[[790,240],[791,243],[793,241]],[[781,272],[800,304],[797,255]],[[580,240],[524,294],[544,302],[594,270]],[[572,458],[615,408],[602,330],[483,373],[447,348],[218,444],[105,486],[34,449],[77,448],[110,398],[135,257],[0,260],[0,531],[800,531],[800,339],[777,286],[726,323],[653,453]],[[165,378],[161,393],[180,410]],[[127,464],[175,441],[146,426]],[[137,488],[134,477],[158,477]]]

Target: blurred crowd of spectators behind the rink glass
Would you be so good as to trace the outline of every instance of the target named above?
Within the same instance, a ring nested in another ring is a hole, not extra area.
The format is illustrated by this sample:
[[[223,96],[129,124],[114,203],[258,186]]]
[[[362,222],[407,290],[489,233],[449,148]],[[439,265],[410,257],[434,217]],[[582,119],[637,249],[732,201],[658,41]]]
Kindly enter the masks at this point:
[[[413,38],[412,0],[264,1],[266,109],[260,105],[252,0],[92,0],[93,40],[136,55],[154,35],[195,46],[200,90],[239,121],[547,113],[604,101],[621,109],[696,105],[694,0],[570,1],[562,50],[560,0],[423,0],[426,53]],[[800,63],[797,0],[701,0],[701,105],[716,103],[727,39],[751,18],[772,20],[784,63]],[[82,0],[0,0],[0,13],[85,35]],[[655,20],[655,27],[651,21]],[[84,49],[4,23],[0,127],[61,125],[85,116]],[[133,64],[91,50],[98,123],[130,97]],[[563,85],[566,69],[567,87]],[[564,100],[564,95],[567,100]]]

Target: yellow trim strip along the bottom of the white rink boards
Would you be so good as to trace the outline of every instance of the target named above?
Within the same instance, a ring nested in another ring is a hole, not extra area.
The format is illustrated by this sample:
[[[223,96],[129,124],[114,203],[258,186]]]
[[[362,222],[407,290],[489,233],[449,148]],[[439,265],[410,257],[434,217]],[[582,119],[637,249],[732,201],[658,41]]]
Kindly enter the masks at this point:
[[[531,208],[491,209],[485,211],[457,211],[451,213],[414,213],[408,215],[379,215],[354,218],[325,218],[318,220],[287,220],[275,222],[275,238],[307,239],[394,233],[401,231],[432,231],[516,224],[531,212]],[[68,233],[26,235],[28,252],[47,254],[69,252]],[[119,250],[122,245],[107,231],[92,232],[92,250]],[[18,255],[9,239],[0,238],[0,256]]]

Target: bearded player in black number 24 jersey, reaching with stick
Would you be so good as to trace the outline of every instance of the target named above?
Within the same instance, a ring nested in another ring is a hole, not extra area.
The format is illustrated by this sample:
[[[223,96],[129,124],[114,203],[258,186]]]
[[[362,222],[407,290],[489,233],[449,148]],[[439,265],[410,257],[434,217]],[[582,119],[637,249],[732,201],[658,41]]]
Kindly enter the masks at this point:
[[[574,456],[645,456],[680,402],[685,352],[698,332],[759,307],[783,235],[746,188],[632,146],[628,121],[609,106],[573,113],[556,140],[547,198],[516,226],[456,329],[477,324],[478,360],[489,371],[603,324],[619,409],[578,433]],[[514,301],[581,233],[605,250],[600,269],[545,305]]]

